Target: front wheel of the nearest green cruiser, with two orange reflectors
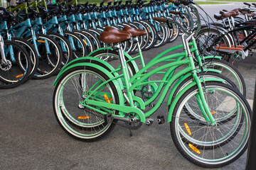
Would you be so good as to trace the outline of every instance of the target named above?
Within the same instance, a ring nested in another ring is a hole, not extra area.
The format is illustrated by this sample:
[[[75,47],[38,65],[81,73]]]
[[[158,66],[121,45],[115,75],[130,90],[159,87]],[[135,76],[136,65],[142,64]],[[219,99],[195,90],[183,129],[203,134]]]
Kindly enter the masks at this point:
[[[179,98],[174,108],[171,137],[188,161],[198,166],[218,168],[234,162],[247,149],[251,109],[245,98],[226,84],[207,82],[204,91],[217,125],[210,125],[203,115],[199,116],[198,88],[193,86]],[[186,103],[194,103],[197,119],[191,118],[183,109]],[[225,121],[223,118],[230,112],[235,118]]]

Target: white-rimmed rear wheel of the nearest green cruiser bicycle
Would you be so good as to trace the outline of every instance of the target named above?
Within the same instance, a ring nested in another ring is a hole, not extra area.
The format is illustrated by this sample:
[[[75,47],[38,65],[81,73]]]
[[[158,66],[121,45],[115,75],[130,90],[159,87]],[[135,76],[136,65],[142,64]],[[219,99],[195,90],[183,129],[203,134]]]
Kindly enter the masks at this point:
[[[117,120],[107,123],[103,115],[95,109],[112,114],[118,114],[118,111],[82,105],[82,101],[88,98],[119,104],[117,89],[112,81],[102,85],[108,79],[109,77],[99,69],[75,67],[68,70],[55,86],[53,94],[55,118],[68,135],[78,140],[92,142],[100,140],[112,131]],[[101,87],[97,89],[98,86]]]

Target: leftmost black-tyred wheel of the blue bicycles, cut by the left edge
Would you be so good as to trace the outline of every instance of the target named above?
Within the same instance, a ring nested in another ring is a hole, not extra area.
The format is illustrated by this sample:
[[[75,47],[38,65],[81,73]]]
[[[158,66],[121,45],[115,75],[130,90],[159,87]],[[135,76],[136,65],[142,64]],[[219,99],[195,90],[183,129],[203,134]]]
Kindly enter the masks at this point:
[[[0,88],[14,88],[28,79],[31,72],[31,60],[26,50],[14,41],[4,40],[3,52],[0,61]]]

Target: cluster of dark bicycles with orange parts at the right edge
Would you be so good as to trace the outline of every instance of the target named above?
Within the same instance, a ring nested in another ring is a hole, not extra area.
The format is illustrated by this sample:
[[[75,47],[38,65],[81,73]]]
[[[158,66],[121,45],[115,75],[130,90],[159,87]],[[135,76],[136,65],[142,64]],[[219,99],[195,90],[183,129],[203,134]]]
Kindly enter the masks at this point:
[[[244,4],[242,8],[215,13],[214,18],[221,22],[202,27],[196,36],[202,55],[215,54],[232,62],[252,55],[256,47],[256,4]]]

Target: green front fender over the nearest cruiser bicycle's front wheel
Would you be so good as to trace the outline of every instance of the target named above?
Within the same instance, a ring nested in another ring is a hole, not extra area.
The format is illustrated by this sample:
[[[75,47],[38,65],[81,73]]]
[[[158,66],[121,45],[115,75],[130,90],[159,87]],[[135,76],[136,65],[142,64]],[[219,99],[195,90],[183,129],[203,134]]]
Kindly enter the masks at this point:
[[[203,82],[203,79],[200,79],[201,82]],[[213,79],[213,78],[208,78],[208,79],[204,79],[204,81],[220,81],[220,82],[224,82],[225,80],[223,79]],[[188,84],[186,87],[184,87],[179,93],[178,95],[174,98],[174,101],[171,103],[171,106],[169,108],[169,113],[168,113],[168,116],[167,116],[167,123],[170,123],[171,122],[171,117],[172,117],[172,114],[174,112],[174,107],[176,106],[176,103],[178,102],[178,98],[181,98],[181,96],[188,90],[190,89],[192,86],[195,86],[196,85],[196,82],[193,81],[191,82],[190,84]],[[170,99],[171,100],[171,99]],[[169,104],[170,105],[170,104]]]

